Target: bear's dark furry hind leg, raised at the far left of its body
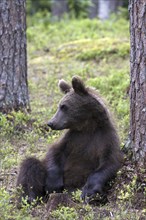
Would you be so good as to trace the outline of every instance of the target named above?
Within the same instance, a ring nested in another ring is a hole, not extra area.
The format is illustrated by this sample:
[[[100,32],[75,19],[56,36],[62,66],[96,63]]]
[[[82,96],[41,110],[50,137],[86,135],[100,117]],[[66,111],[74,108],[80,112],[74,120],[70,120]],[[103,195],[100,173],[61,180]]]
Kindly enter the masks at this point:
[[[19,200],[22,201],[24,197],[31,203],[44,198],[46,177],[47,170],[41,161],[33,157],[24,160],[17,178],[17,187],[22,188]]]

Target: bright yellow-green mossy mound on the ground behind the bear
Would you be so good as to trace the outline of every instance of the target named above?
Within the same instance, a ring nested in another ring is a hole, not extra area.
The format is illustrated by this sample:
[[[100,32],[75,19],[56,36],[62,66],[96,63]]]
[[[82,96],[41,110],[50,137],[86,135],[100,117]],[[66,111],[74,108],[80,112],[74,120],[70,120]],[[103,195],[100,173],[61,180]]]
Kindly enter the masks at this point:
[[[58,58],[63,60],[75,57],[81,61],[99,61],[109,56],[125,58],[129,56],[129,42],[118,38],[82,39],[60,45]]]

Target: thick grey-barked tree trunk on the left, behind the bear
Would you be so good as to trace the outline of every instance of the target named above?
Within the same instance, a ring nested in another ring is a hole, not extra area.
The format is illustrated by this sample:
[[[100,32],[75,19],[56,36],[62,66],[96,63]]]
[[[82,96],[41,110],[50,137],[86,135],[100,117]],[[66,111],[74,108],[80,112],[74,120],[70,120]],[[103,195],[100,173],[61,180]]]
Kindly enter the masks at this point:
[[[0,111],[29,109],[25,0],[0,1]]]

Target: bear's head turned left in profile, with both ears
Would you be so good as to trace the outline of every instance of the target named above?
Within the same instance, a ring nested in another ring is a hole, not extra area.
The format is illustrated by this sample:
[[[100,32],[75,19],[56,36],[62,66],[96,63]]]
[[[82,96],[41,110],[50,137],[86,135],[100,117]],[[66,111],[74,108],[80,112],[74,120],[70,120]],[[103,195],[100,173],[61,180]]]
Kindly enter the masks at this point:
[[[78,76],[72,78],[72,86],[64,80],[60,80],[58,85],[65,95],[59,103],[57,112],[48,122],[52,129],[82,130],[93,124],[99,113],[105,112],[102,104]]]

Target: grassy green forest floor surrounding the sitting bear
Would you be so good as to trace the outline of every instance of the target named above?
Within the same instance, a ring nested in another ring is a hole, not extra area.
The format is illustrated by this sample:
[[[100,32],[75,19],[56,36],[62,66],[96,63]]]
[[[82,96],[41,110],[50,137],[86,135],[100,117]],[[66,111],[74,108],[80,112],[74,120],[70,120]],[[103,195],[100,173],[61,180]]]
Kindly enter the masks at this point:
[[[145,171],[132,162],[128,145],[128,21],[113,16],[104,22],[64,19],[53,23],[37,16],[28,20],[27,29],[31,113],[0,114],[0,220],[146,219]],[[97,197],[92,204],[83,204],[77,190],[66,204],[55,206],[60,197],[52,195],[54,203],[25,204],[18,209],[15,185],[19,165],[27,156],[43,158],[49,144],[61,135],[46,124],[62,97],[58,80],[70,82],[74,75],[97,89],[112,111],[125,156],[123,167],[106,197]]]

